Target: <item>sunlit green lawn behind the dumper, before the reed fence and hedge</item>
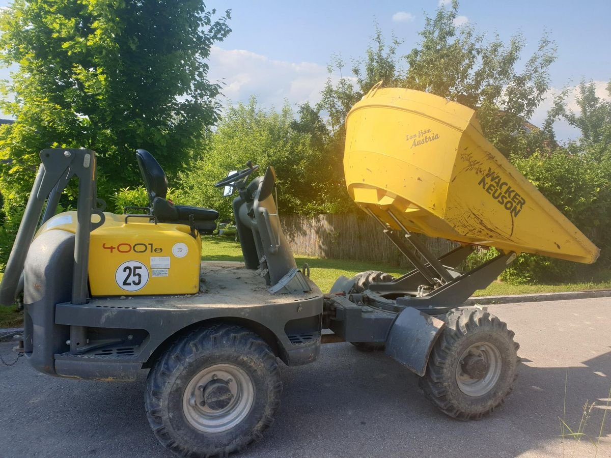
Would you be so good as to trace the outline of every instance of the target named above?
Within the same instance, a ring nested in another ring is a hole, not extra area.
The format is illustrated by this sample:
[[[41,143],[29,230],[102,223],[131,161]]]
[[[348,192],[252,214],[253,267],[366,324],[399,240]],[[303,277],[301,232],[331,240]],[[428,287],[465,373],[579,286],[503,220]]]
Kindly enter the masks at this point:
[[[203,261],[242,261],[240,244],[230,238],[218,236],[204,237],[202,247]],[[405,271],[400,267],[384,263],[370,263],[368,261],[331,260],[296,256],[297,265],[308,263],[310,278],[326,293],[340,275],[352,277],[363,271],[383,271],[395,277],[403,275]],[[562,285],[509,285],[508,283],[494,282],[486,289],[475,291],[474,296],[507,296],[510,294],[536,294],[558,293],[565,291],[584,291],[585,289],[611,288],[611,280],[599,283],[563,283]]]

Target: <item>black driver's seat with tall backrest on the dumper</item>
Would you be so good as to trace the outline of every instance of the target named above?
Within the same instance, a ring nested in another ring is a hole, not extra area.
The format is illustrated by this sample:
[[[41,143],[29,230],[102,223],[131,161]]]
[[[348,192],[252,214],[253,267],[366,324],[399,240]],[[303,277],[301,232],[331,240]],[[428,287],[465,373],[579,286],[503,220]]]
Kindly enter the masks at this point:
[[[216,229],[219,213],[211,208],[174,205],[167,200],[166,173],[147,150],[136,150],[136,158],[144,186],[147,188],[148,203],[153,215],[162,223],[193,225],[199,233],[210,234]]]

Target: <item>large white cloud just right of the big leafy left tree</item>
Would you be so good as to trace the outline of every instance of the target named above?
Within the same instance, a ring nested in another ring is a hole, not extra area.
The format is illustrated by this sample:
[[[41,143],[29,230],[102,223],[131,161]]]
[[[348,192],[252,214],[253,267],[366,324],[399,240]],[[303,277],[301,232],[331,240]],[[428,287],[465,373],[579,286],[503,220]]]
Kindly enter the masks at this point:
[[[295,106],[316,103],[329,76],[327,67],[312,62],[273,60],[244,49],[213,46],[210,81],[223,81],[222,93],[230,103],[246,103],[251,95],[262,106],[279,108],[285,100]],[[337,81],[338,76],[332,75]]]

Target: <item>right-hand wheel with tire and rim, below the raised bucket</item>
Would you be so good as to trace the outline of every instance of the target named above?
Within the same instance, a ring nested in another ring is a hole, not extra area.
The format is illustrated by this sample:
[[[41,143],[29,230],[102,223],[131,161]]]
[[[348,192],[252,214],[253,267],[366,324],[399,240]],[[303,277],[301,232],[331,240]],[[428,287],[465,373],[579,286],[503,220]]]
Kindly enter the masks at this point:
[[[446,415],[477,420],[511,393],[519,344],[496,316],[479,309],[450,310],[420,387]]]

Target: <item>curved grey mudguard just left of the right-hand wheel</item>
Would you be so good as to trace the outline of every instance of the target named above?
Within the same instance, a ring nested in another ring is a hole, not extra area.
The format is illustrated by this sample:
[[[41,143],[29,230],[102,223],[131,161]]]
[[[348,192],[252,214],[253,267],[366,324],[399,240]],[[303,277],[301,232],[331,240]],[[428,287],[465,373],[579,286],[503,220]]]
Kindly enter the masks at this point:
[[[390,326],[386,354],[422,377],[431,349],[444,327],[441,319],[406,307]]]

